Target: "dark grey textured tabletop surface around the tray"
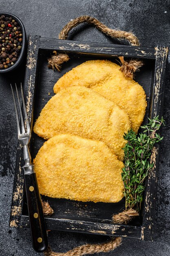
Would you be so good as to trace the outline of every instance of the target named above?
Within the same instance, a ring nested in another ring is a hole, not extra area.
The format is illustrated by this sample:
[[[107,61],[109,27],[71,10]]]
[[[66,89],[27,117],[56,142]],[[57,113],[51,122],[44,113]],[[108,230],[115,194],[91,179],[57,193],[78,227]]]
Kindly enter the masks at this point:
[[[170,46],[169,0],[0,0],[0,12],[11,12],[21,18],[26,33],[57,38],[71,19],[88,14],[110,28],[133,31],[143,46]],[[83,30],[82,30],[83,28]],[[82,25],[73,29],[69,39],[112,42],[94,27]],[[166,72],[163,142],[159,168],[154,242],[124,239],[123,245],[104,255],[169,256],[170,255],[170,57]],[[16,120],[9,83],[22,81],[24,67],[12,74],[0,75],[0,256],[41,255],[31,247],[29,229],[10,229],[9,215],[17,147]],[[65,252],[84,243],[100,243],[108,237],[51,231],[49,243]]]

